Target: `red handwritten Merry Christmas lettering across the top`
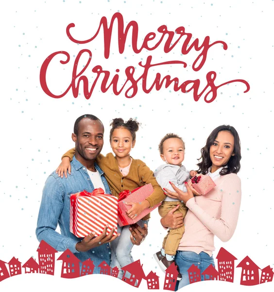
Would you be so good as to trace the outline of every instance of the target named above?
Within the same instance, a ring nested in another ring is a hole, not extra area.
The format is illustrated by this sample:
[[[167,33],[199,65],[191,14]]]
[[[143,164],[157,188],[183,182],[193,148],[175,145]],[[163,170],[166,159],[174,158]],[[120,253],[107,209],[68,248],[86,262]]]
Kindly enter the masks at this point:
[[[157,47],[159,47],[160,44],[164,43],[164,53],[169,53],[175,46],[179,46],[179,41],[184,37],[185,40],[183,41],[183,44],[181,46],[181,53],[182,55],[187,55],[191,50],[195,50],[196,52],[199,52],[199,55],[196,57],[194,62],[192,63],[192,70],[197,72],[199,71],[206,62],[206,56],[207,52],[210,47],[221,44],[223,47],[223,50],[227,50],[227,44],[224,41],[215,41],[210,42],[209,36],[206,36],[204,41],[201,45],[199,45],[199,39],[196,38],[193,41],[191,40],[192,34],[186,33],[185,28],[183,26],[178,27],[175,32],[169,31],[166,25],[161,25],[157,32],[158,34],[154,32],[148,33],[141,44],[140,47],[138,47],[138,24],[136,21],[132,20],[128,23],[128,25],[124,28],[124,20],[120,13],[115,13],[113,17],[111,18],[110,24],[108,26],[107,19],[105,17],[101,18],[99,27],[95,35],[89,39],[86,40],[78,40],[75,37],[72,36],[71,29],[75,26],[74,23],[70,23],[67,26],[67,36],[68,38],[77,44],[86,44],[94,40],[100,31],[103,28],[103,52],[104,57],[106,59],[109,58],[110,55],[110,45],[111,45],[111,39],[112,39],[112,30],[114,26],[114,21],[117,19],[117,25],[118,25],[118,46],[119,46],[119,53],[123,54],[125,49],[125,42],[128,36],[129,31],[132,29],[132,36],[131,36],[131,48],[134,51],[134,53],[139,54],[142,50],[147,51],[153,51]],[[155,37],[159,37],[159,40],[155,43]],[[176,37],[175,37],[176,36]],[[174,39],[176,38],[176,39]],[[181,45],[181,44],[180,44]],[[82,70],[78,70],[78,64],[80,62],[80,59],[82,55],[88,56],[88,59],[86,61],[86,65],[83,66]],[[113,93],[115,95],[119,95],[122,91],[124,91],[125,97],[132,98],[134,97],[139,89],[139,86],[141,86],[143,92],[150,93],[153,89],[156,91],[159,91],[162,86],[165,88],[173,87],[173,91],[181,91],[182,93],[187,93],[189,91],[193,91],[193,98],[195,101],[198,101],[201,96],[204,96],[204,100],[206,103],[210,103],[215,100],[217,97],[217,90],[218,88],[222,87],[223,85],[234,83],[234,82],[240,82],[243,83],[246,86],[246,89],[244,92],[249,91],[250,86],[247,81],[243,79],[235,79],[230,80],[227,82],[224,82],[222,84],[215,84],[216,82],[216,72],[210,71],[206,74],[206,86],[203,88],[200,88],[200,79],[195,80],[186,80],[186,81],[180,81],[178,77],[171,77],[171,75],[162,76],[160,73],[153,73],[155,74],[154,81],[150,84],[147,81],[148,75],[150,74],[150,80],[151,80],[151,68],[153,68],[153,71],[156,71],[157,68],[163,65],[180,65],[183,66],[183,68],[187,67],[187,63],[181,60],[170,60],[165,61],[161,63],[154,63],[152,58],[152,55],[147,56],[147,59],[144,63],[139,62],[139,69],[141,69],[142,74],[137,76],[136,68],[135,66],[128,66],[125,69],[125,75],[126,79],[122,86],[118,86],[118,84],[121,84],[121,81],[119,79],[119,72],[120,69],[116,69],[116,74],[114,76],[111,76],[110,72],[107,70],[103,70],[103,67],[100,65],[96,65],[92,68],[91,72],[95,73],[95,78],[92,79],[92,81],[89,81],[87,76],[84,75],[86,69],[88,68],[91,60],[92,60],[92,52],[88,49],[82,49],[78,53],[78,55],[75,58],[74,66],[72,70],[71,80],[68,80],[68,87],[65,89],[61,89],[61,94],[56,95],[53,92],[51,92],[50,88],[47,85],[47,79],[46,75],[48,73],[48,67],[51,63],[51,60],[54,57],[65,57],[65,60],[60,60],[60,63],[62,65],[68,64],[70,60],[70,55],[66,51],[58,51],[55,53],[52,53],[49,55],[46,60],[43,62],[40,70],[40,84],[43,89],[43,91],[53,97],[53,98],[61,98],[65,96],[68,91],[71,89],[73,96],[76,98],[79,95],[80,91],[80,85],[82,84],[82,88],[84,91],[84,95],[86,99],[89,99],[92,95],[92,92],[94,91],[95,86],[97,85],[98,80],[103,80],[101,82],[101,91],[106,92],[112,89]],[[90,72],[90,70],[88,70]],[[82,81],[82,82],[81,82]],[[89,85],[91,83],[91,86]]]

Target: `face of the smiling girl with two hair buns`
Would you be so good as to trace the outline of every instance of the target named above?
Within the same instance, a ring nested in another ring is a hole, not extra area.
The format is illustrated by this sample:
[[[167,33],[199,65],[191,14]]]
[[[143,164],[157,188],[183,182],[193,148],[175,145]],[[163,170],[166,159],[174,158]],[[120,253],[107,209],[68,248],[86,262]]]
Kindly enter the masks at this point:
[[[131,148],[135,146],[131,132],[127,128],[117,128],[113,131],[110,145],[116,156],[123,158],[129,155]]]

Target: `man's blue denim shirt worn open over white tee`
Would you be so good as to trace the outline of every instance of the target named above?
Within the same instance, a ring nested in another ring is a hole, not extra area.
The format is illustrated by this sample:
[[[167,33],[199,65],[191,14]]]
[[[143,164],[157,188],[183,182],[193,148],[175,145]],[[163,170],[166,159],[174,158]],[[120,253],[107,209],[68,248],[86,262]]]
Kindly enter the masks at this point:
[[[110,194],[109,186],[103,176],[103,170],[98,164],[94,164],[94,166],[101,175],[106,194]],[[87,252],[78,252],[75,248],[76,243],[81,241],[82,238],[75,237],[69,231],[70,196],[83,190],[92,192],[94,186],[86,167],[74,156],[71,162],[71,174],[68,174],[67,179],[65,176],[63,178],[58,177],[55,172],[52,172],[45,183],[38,214],[36,237],[39,241],[45,240],[57,251],[69,249],[82,262],[90,258],[96,267],[103,260],[110,264],[111,253],[108,243]],[[61,234],[55,231],[57,223],[61,229]],[[99,274],[100,268],[96,267],[94,274]]]

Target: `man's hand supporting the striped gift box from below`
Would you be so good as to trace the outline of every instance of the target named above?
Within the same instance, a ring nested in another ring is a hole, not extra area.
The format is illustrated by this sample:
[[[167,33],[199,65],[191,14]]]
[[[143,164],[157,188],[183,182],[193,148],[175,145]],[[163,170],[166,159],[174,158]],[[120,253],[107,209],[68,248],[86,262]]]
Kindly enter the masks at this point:
[[[82,241],[76,243],[76,250],[78,252],[87,252],[90,249],[97,247],[99,245],[102,245],[104,243],[108,243],[116,239],[117,237],[120,236],[120,233],[118,233],[115,236],[113,235],[113,232],[115,228],[113,227],[112,230],[108,235],[106,235],[106,230],[107,230],[108,225],[106,225],[103,229],[103,233],[99,235],[98,237],[94,237],[95,233],[91,232],[88,234]]]

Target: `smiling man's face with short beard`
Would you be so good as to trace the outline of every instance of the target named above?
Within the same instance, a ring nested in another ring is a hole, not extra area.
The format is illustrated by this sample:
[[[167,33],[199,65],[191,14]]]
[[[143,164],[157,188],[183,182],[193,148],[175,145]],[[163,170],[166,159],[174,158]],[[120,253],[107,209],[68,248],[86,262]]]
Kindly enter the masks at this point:
[[[95,160],[103,148],[103,124],[99,120],[82,119],[78,124],[78,136],[72,134],[76,143],[75,156],[82,164]]]

